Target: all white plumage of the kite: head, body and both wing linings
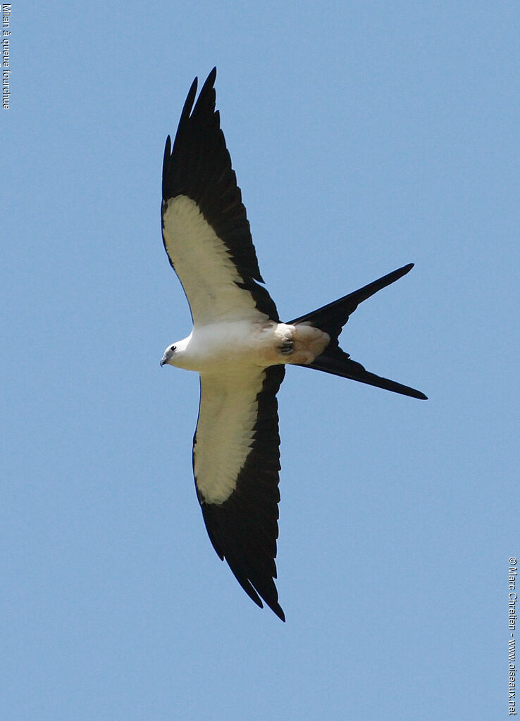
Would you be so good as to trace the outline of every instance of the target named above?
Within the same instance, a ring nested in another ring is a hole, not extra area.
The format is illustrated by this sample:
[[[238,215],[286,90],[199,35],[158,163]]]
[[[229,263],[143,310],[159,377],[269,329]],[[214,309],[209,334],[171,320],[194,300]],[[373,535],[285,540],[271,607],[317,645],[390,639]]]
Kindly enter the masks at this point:
[[[193,332],[175,343],[175,353],[167,349],[164,362],[200,373],[195,479],[207,503],[224,503],[250,453],[264,369],[311,363],[330,337],[258,311],[249,291],[237,286],[242,278],[226,246],[193,200],[169,200],[163,218],[167,252],[193,316]]]

